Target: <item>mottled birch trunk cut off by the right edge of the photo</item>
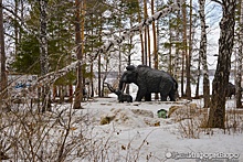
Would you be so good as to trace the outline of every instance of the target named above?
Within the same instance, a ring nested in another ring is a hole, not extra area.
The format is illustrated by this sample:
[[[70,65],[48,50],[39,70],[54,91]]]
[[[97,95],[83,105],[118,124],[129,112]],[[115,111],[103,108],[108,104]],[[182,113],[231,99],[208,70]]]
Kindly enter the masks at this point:
[[[236,57],[236,62],[237,62],[237,71],[236,71],[236,82],[235,82],[235,86],[236,86],[236,108],[242,108],[242,89],[241,89],[241,82],[242,82],[242,52],[243,52],[243,0],[240,1],[240,34],[239,34],[239,42],[240,42],[240,46],[239,46],[239,52],[237,52],[237,57]]]

